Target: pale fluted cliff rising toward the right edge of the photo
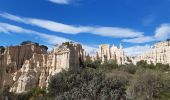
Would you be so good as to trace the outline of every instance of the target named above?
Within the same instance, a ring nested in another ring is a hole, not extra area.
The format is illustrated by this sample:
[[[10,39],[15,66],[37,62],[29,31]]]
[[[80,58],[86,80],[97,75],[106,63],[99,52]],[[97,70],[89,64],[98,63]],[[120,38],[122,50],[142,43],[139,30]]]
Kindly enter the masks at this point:
[[[134,58],[134,64],[138,61],[147,61],[148,64],[170,64],[170,41],[156,43],[150,51]]]

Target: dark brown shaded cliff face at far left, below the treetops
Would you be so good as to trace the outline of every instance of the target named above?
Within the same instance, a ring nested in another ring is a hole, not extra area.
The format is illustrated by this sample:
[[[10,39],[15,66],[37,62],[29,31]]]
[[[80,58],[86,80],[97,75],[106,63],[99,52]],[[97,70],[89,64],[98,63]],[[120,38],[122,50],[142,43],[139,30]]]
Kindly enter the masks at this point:
[[[20,69],[25,60],[29,60],[34,53],[45,54],[46,50],[36,44],[27,44],[22,46],[11,46],[5,50],[7,56],[7,67],[12,72]]]

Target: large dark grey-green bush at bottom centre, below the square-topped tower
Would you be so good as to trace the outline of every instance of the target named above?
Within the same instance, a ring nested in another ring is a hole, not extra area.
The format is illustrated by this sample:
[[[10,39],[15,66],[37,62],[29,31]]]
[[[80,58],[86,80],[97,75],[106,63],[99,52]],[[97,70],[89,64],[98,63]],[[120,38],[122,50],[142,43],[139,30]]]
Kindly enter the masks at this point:
[[[53,76],[48,91],[56,100],[120,100],[126,97],[126,85],[127,80],[86,68]]]

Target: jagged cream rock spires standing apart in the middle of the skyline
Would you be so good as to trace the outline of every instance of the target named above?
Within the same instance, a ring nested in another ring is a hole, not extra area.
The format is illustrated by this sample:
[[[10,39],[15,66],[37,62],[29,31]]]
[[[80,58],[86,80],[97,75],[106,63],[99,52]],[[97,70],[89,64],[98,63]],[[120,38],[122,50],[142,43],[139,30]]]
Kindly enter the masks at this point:
[[[127,63],[127,57],[123,52],[122,45],[120,45],[119,48],[114,45],[110,48],[109,44],[102,44],[99,46],[99,51],[96,56],[102,60],[102,63],[109,60],[114,60],[119,65]]]

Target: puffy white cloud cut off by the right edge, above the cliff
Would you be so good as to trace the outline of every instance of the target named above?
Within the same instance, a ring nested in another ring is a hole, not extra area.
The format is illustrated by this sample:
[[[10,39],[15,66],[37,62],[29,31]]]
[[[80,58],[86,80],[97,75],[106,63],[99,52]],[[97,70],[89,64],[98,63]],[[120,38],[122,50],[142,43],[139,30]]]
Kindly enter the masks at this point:
[[[155,31],[155,38],[165,40],[170,37],[170,24],[162,24]]]

